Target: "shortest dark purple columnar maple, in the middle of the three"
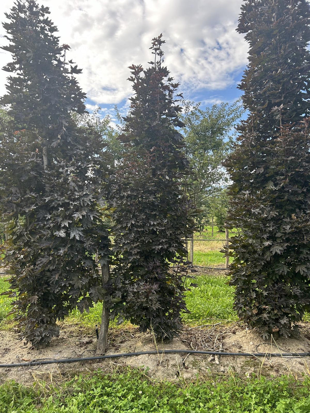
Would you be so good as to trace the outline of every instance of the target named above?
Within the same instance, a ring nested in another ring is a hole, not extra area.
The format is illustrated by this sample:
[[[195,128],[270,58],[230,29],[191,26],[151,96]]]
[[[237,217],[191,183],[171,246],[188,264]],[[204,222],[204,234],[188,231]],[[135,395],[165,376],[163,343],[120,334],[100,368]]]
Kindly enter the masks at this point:
[[[119,139],[130,147],[112,187],[116,256],[112,271],[113,314],[142,331],[172,338],[184,303],[186,251],[191,204],[181,190],[187,161],[177,132],[181,108],[177,83],[162,64],[160,35],[153,39],[148,69],[131,66],[134,96]],[[172,266],[173,264],[173,266]]]

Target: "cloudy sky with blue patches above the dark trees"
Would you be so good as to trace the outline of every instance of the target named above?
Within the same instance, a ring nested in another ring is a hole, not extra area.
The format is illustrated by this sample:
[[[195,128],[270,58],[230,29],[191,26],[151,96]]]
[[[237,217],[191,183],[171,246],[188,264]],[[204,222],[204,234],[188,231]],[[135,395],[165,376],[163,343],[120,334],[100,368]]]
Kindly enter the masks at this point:
[[[248,46],[236,33],[242,0],[42,0],[69,44],[69,57],[83,69],[78,80],[88,96],[88,108],[112,113],[115,104],[126,111],[131,95],[128,66],[147,66],[151,39],[166,40],[165,64],[180,82],[184,97],[203,105],[232,102],[247,62]],[[4,12],[14,0],[2,0]],[[0,43],[6,44],[0,28]],[[0,50],[0,66],[10,55]],[[0,95],[6,73],[0,72]]]

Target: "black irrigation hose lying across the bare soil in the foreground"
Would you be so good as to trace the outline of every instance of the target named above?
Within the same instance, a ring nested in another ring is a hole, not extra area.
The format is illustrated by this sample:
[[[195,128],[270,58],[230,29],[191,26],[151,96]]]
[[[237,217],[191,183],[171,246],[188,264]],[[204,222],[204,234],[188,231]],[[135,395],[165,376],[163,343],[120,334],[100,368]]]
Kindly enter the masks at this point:
[[[11,364],[0,364],[0,368],[10,368],[10,367],[32,367],[41,366],[43,364],[53,364],[53,363],[75,363],[76,361],[91,361],[91,360],[103,360],[105,358],[117,358],[117,357],[131,357],[131,356],[142,356],[145,354],[208,354],[211,356],[250,356],[250,357],[305,357],[310,356],[310,353],[227,353],[220,351],[199,351],[199,350],[165,350],[165,351],[138,351],[137,353],[122,353],[122,354],[107,354],[106,356],[93,356],[84,358],[63,358],[54,360],[33,360],[27,363],[11,363]]]

